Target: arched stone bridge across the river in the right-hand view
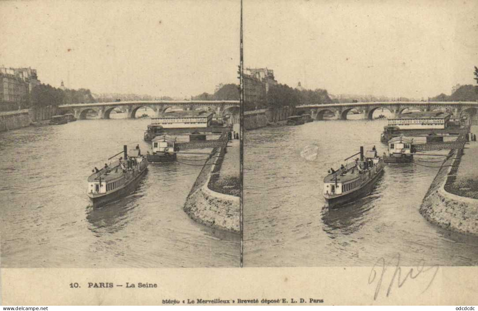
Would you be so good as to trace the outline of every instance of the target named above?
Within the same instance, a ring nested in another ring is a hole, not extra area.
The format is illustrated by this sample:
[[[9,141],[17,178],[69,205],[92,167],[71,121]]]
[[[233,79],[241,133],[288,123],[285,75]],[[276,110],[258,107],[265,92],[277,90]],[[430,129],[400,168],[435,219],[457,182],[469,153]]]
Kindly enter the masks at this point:
[[[312,118],[323,120],[325,114],[334,114],[334,119],[347,119],[348,113],[354,109],[363,114],[364,118],[373,119],[373,112],[377,109],[387,109],[390,115],[396,117],[403,113],[405,109],[420,111],[444,111],[451,113],[454,117],[468,115],[474,117],[478,111],[478,101],[476,102],[428,102],[428,101],[408,101],[408,102],[359,102],[345,104],[323,104],[323,105],[301,105],[296,106],[296,114],[310,113]]]

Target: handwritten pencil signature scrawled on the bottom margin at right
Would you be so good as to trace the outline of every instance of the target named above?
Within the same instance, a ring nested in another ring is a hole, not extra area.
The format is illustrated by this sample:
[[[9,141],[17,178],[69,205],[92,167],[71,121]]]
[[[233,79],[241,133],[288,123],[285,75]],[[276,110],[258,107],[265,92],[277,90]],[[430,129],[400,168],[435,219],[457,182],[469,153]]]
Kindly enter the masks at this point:
[[[398,285],[398,288],[401,288],[408,279],[416,279],[418,276],[424,275],[427,271],[435,269],[435,273],[433,273],[432,277],[430,278],[428,285],[422,291],[422,293],[424,293],[426,290],[428,290],[428,288],[432,284],[436,274],[438,273],[438,269],[440,268],[439,266],[425,268],[424,259],[418,262],[418,266],[416,268],[410,268],[410,269],[402,268],[400,267],[400,254],[398,254],[395,257],[397,259],[397,264],[395,266],[390,267],[391,265],[389,265],[389,267],[386,267],[387,265],[385,262],[385,258],[383,257],[379,258],[379,260],[377,260],[375,265],[373,265],[373,268],[369,274],[369,284],[377,282],[373,300],[377,300],[377,297],[380,293],[380,289],[382,286],[382,282],[386,282],[386,280],[384,279],[384,274],[387,269],[390,269],[390,268],[395,269],[395,271],[393,272],[393,277],[391,278],[389,286],[388,286],[388,290],[387,290],[387,297],[388,297],[390,295],[393,285],[395,284],[395,279],[396,279],[396,284]],[[393,257],[392,259],[394,259],[395,257]],[[405,273],[405,275],[402,276],[402,273]],[[431,275],[431,274],[428,273],[428,275]]]

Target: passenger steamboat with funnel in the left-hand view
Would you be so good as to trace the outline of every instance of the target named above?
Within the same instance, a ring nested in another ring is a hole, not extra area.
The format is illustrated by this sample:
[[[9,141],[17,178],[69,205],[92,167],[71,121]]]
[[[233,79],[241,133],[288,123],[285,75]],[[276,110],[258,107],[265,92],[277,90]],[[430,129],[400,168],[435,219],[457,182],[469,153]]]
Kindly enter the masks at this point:
[[[93,174],[88,177],[87,190],[93,207],[116,201],[136,189],[148,167],[148,160],[141,155],[139,146],[136,148],[128,153],[125,145],[122,152],[108,159],[114,159],[123,153],[116,165],[109,167],[105,164],[101,170],[93,170]]]

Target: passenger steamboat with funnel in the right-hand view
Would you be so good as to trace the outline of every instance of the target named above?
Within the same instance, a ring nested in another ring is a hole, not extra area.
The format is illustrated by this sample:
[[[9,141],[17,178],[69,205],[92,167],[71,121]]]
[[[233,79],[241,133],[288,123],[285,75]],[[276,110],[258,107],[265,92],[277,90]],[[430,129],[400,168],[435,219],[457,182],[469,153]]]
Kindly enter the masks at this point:
[[[340,207],[369,194],[383,173],[383,160],[377,156],[376,150],[367,151],[364,155],[363,147],[360,147],[360,152],[344,161],[359,154],[360,158],[342,165],[337,171],[331,169],[324,178],[323,195],[329,208]]]

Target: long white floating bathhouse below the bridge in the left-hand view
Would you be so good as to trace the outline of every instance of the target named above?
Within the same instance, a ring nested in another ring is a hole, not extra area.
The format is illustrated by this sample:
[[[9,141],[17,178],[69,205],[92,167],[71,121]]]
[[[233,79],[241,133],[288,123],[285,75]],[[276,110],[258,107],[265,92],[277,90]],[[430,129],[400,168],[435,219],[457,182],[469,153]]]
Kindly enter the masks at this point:
[[[164,129],[207,128],[212,125],[212,116],[210,111],[175,111],[151,118],[151,124]]]

